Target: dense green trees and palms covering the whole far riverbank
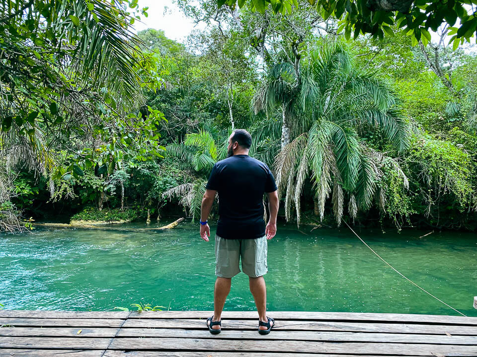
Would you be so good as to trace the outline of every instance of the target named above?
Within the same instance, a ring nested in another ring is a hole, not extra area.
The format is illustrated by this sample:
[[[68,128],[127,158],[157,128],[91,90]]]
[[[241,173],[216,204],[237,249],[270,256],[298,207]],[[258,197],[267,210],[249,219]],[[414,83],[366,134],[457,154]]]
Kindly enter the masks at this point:
[[[475,27],[425,1],[405,21],[353,20],[354,1],[177,3],[210,24],[186,44],[134,35],[136,0],[0,2],[0,230],[197,217],[233,128],[252,133],[287,221],[477,229],[477,57],[461,41]]]

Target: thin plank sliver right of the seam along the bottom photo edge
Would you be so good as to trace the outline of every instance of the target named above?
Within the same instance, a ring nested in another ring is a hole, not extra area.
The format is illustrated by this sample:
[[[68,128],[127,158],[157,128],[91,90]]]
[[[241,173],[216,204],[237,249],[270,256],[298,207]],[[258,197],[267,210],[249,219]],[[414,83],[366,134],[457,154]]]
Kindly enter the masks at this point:
[[[0,350],[1,351],[1,350]],[[322,354],[293,354],[293,353],[253,353],[253,352],[160,352],[160,351],[106,351],[104,357],[324,357]],[[35,356],[36,357],[36,356]],[[326,357],[376,357],[376,355],[335,355]],[[386,356],[397,357],[397,356]],[[406,356],[418,357],[418,356]]]

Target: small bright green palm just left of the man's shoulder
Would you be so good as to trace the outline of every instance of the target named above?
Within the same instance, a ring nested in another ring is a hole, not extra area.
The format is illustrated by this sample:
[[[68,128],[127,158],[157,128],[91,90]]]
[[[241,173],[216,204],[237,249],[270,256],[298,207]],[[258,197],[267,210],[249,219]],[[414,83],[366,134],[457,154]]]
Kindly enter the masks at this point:
[[[168,199],[180,197],[179,203],[189,209],[193,220],[200,217],[202,196],[212,167],[227,155],[230,134],[231,130],[219,130],[217,126],[206,123],[199,132],[187,134],[183,143],[174,143],[166,147],[166,155],[185,162],[197,176],[190,176],[189,182],[172,187],[165,191],[162,197]]]

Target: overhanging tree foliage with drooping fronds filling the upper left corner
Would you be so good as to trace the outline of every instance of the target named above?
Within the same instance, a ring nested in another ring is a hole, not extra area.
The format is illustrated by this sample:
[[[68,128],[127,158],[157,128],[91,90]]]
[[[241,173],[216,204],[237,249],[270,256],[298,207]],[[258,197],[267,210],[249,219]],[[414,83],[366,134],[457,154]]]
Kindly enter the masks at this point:
[[[48,177],[53,196],[60,179],[66,184],[97,164],[118,162],[103,162],[99,148],[109,147],[111,159],[131,144],[158,144],[159,112],[148,120],[128,116],[143,102],[141,88],[160,83],[160,63],[133,36],[138,9],[134,0],[0,1],[6,170]]]

